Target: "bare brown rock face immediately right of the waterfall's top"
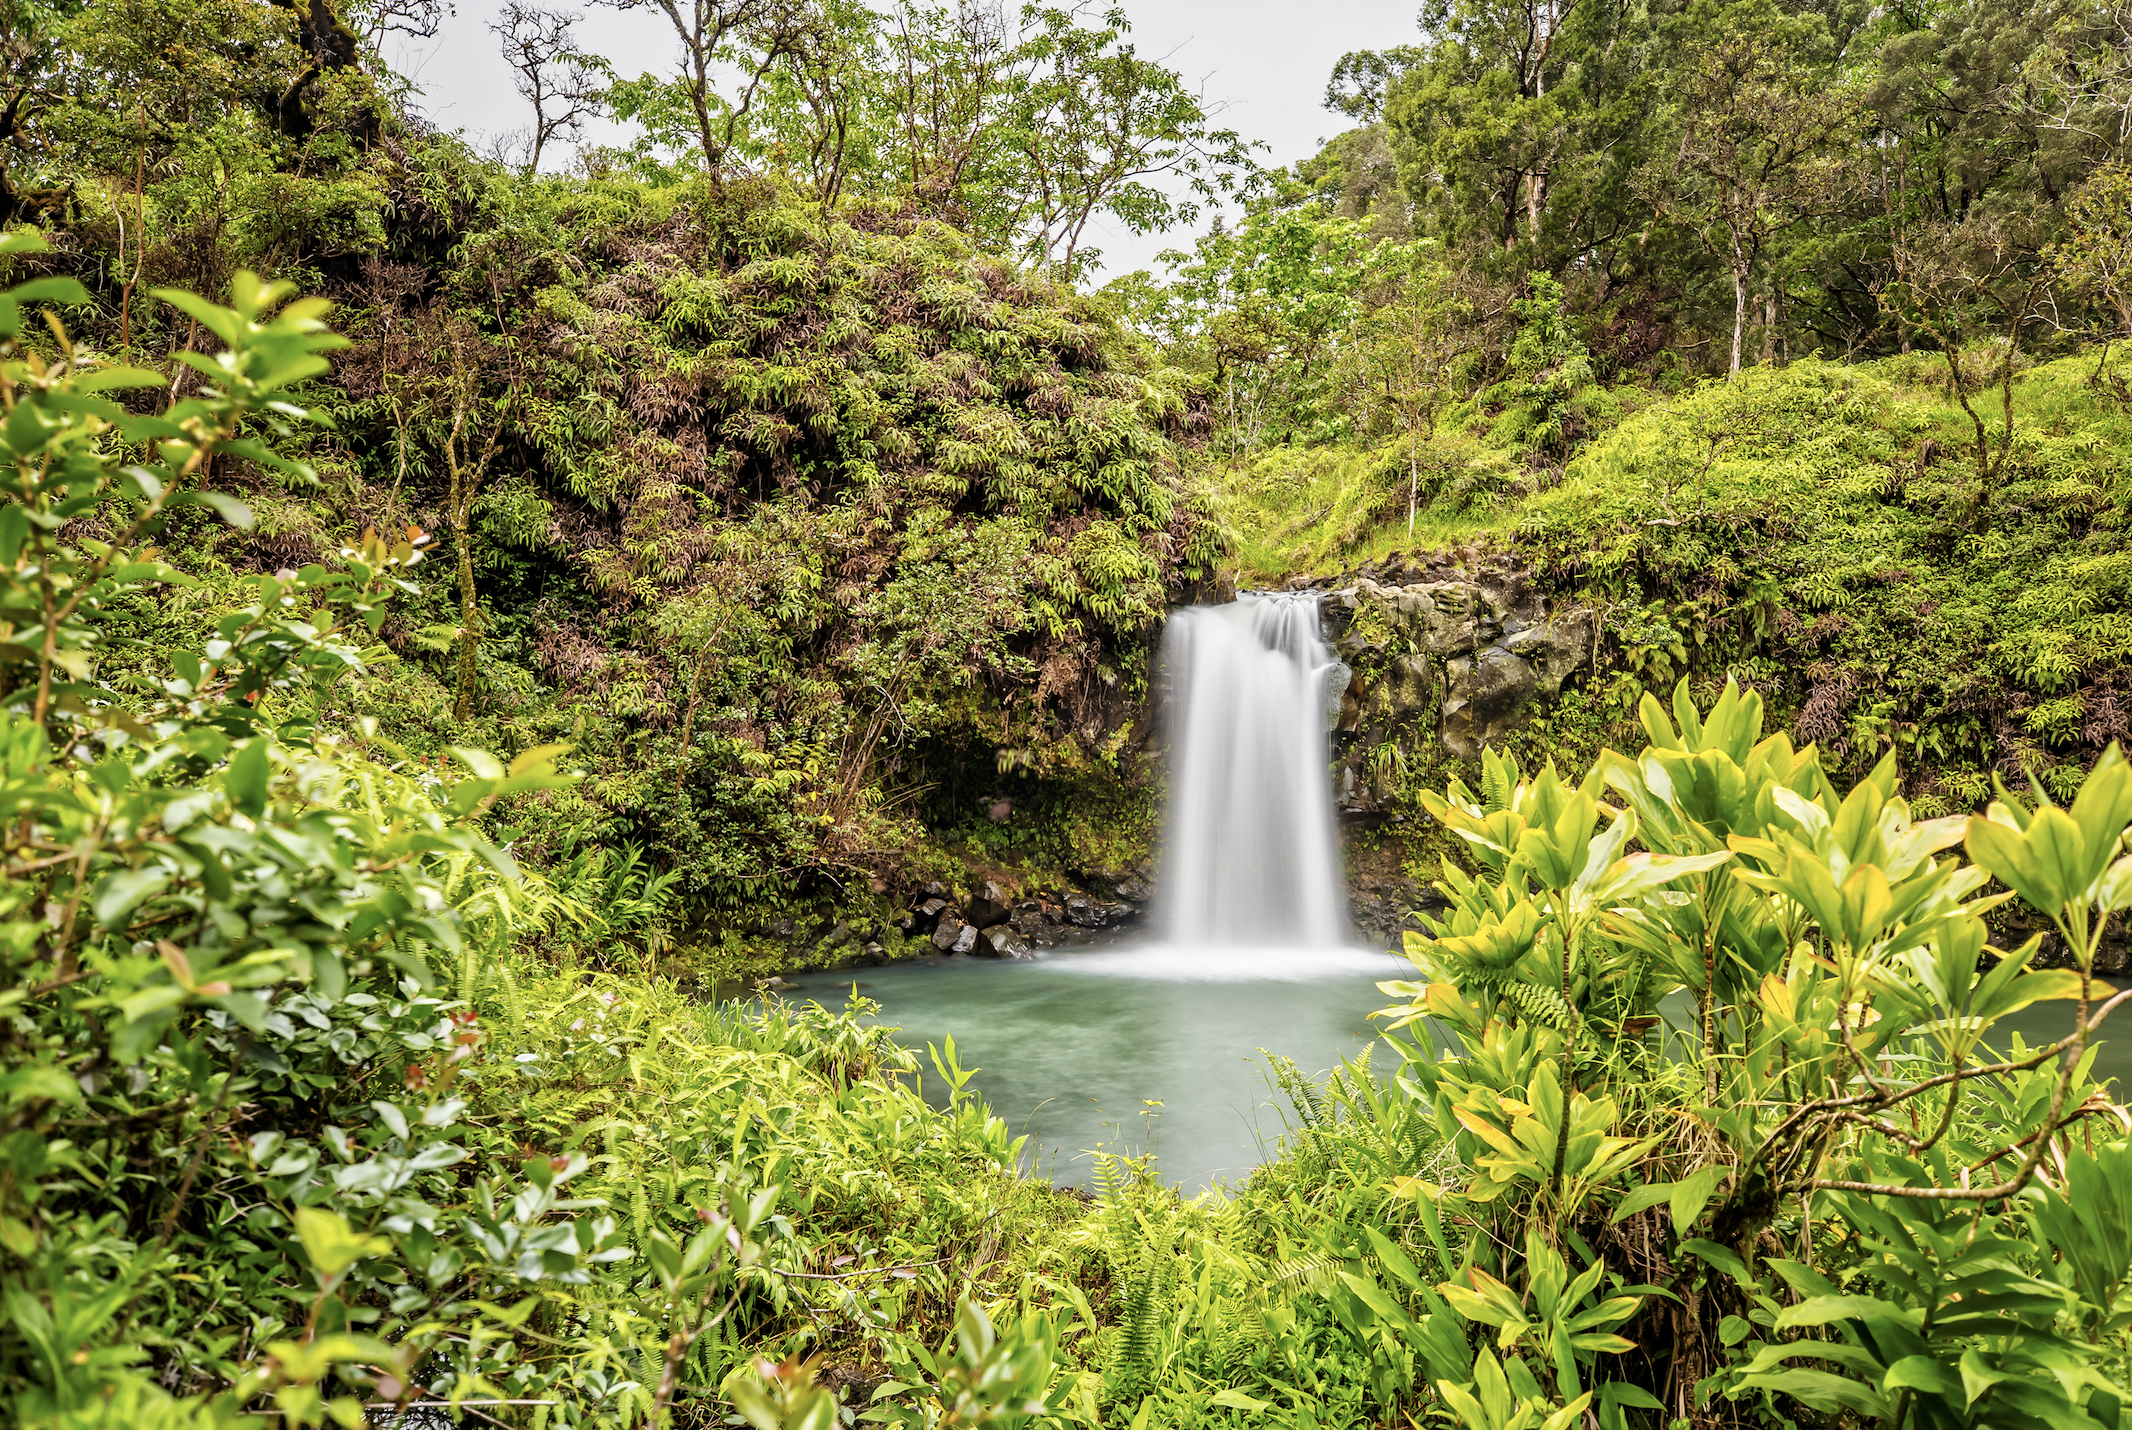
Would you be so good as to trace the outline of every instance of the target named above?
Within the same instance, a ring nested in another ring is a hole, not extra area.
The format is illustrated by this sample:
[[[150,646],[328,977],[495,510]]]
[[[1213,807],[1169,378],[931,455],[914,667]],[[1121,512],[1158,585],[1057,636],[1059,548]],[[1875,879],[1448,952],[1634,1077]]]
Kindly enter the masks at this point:
[[[1480,759],[1590,667],[1599,637],[1595,612],[1554,610],[1505,560],[1388,558],[1311,586],[1345,667],[1332,678],[1335,778],[1350,814],[1375,812],[1394,774],[1437,763],[1439,748]]]

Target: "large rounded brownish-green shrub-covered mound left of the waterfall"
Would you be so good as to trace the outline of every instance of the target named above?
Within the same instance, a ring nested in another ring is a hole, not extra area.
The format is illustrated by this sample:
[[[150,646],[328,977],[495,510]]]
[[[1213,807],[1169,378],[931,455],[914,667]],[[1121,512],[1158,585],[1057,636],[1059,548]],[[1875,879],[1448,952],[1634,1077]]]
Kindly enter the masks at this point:
[[[486,571],[478,688],[524,693],[488,705],[497,742],[648,737],[527,833],[635,842],[699,912],[895,878],[1008,793],[1128,782],[1119,678],[1215,556],[1198,396],[1100,309],[938,224],[723,202],[708,256],[586,215],[591,273],[524,292],[507,345],[448,339],[501,358],[495,475],[454,533]],[[431,330],[382,309],[348,367],[343,426],[379,456],[450,456],[458,407],[392,369]]]

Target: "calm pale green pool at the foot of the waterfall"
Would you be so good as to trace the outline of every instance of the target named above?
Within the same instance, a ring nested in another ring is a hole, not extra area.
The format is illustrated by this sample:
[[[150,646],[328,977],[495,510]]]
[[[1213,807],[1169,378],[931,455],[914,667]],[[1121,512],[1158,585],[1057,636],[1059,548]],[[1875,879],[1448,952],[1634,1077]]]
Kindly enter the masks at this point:
[[[1377,1040],[1369,1014],[1390,1002],[1377,980],[1411,976],[1390,953],[1068,948],[806,974],[791,993],[836,1006],[857,982],[921,1059],[927,1042],[953,1036],[991,1110],[1028,1134],[1036,1176],[1087,1187],[1096,1149],[1153,1151],[1164,1181],[1198,1191],[1243,1181],[1283,1132],[1286,1102],[1260,1051],[1324,1074]],[[1684,995],[1665,1012],[1693,1017]],[[2034,1046],[2070,1019],[2072,1004],[2038,1004],[2002,1021],[1993,1042],[2019,1031]],[[2104,1031],[2115,1038],[2096,1076],[2132,1083],[2132,1012]],[[1375,1053],[1379,1070],[1390,1057]],[[930,1063],[925,1083],[938,1098]]]

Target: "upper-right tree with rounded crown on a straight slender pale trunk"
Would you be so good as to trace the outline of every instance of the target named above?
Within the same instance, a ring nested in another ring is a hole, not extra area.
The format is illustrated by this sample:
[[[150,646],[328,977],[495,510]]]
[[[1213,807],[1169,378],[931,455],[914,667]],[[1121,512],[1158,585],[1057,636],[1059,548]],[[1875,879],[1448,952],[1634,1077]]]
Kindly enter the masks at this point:
[[[1680,79],[1680,147],[1642,188],[1708,249],[1733,283],[1731,367],[1740,371],[1748,286],[1770,241],[1834,213],[1844,194],[1836,139],[1855,100],[1802,66],[1767,17],[1733,15],[1691,49]]]

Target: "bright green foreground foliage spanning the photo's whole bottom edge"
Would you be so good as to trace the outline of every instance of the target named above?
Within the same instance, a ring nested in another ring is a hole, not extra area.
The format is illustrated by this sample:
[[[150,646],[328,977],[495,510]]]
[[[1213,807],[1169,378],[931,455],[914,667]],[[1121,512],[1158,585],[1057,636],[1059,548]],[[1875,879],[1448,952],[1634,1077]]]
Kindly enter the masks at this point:
[[[2087,1080],[2126,997],[2094,980],[2132,904],[2115,748],[2070,808],[1925,823],[1891,759],[1838,797],[1731,686],[1646,697],[1650,746],[1580,784],[1490,752],[1428,797],[1469,863],[1409,942],[1426,982],[1386,985],[1448,1046],[1275,1068],[1296,1127],[1247,1185],[1183,1202],[1113,1155],[1083,1208],[1017,1174],[953,1042],[936,1106],[863,1004],[588,972],[663,889],[495,846],[567,784],[554,748],[448,778],[337,733],[414,543],[254,578],[154,678],[104,665],[185,580],[143,546],[168,514],[249,520],[213,458],[305,480],[243,435],[309,420],[333,345],[281,296],[168,294],[228,350],[162,416],[100,396],[160,375],[0,369],[23,1424],[2119,1424],[2132,1123]],[[2070,970],[1987,946],[1993,878]],[[2064,1040],[1987,1042],[2036,1002],[2074,1004]]]

